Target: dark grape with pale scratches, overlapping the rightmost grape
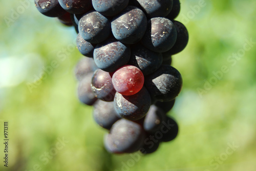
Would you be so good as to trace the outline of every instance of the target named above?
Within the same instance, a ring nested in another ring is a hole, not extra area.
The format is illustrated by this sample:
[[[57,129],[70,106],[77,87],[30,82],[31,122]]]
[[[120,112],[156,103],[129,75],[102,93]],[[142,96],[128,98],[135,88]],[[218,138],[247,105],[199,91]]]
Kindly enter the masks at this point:
[[[177,39],[174,23],[167,18],[151,18],[141,43],[154,52],[166,52],[173,47]]]

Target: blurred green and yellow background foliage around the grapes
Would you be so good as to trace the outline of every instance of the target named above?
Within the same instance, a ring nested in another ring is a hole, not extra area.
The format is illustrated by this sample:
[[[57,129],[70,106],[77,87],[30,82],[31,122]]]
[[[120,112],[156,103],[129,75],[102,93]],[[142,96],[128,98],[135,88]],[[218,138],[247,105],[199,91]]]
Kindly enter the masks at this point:
[[[76,95],[74,29],[32,0],[0,2],[0,170],[255,170],[255,1],[181,0],[190,37],[173,56],[184,85],[168,113],[179,135],[146,156],[104,150],[105,130]]]

